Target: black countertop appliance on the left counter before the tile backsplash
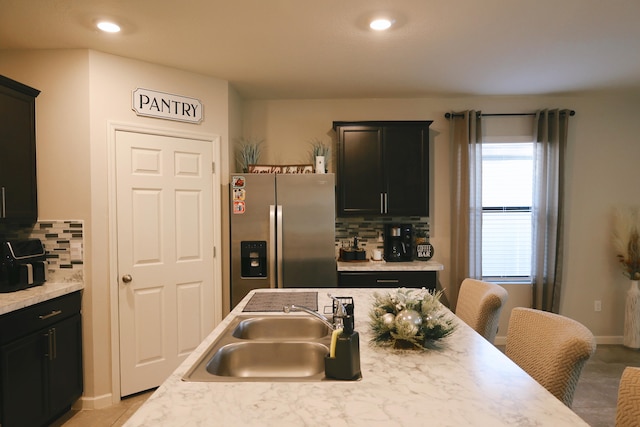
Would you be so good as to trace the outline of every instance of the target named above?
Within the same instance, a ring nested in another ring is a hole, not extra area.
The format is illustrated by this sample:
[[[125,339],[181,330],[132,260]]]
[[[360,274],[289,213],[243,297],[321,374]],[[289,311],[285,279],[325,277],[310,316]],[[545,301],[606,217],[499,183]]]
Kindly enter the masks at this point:
[[[47,259],[40,239],[0,243],[0,293],[42,285],[47,280]]]

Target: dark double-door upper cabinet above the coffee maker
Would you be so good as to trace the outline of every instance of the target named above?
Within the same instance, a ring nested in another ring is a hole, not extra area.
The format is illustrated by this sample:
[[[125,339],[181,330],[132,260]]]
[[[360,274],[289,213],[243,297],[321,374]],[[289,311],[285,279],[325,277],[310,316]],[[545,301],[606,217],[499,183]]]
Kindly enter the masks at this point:
[[[428,216],[431,123],[333,122],[338,216]]]

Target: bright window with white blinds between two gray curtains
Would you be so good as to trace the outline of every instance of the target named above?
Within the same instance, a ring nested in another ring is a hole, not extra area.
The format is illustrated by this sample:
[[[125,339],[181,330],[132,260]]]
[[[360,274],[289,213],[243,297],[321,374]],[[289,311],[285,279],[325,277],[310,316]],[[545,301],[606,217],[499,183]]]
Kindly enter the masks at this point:
[[[533,142],[482,144],[482,276],[531,280]]]

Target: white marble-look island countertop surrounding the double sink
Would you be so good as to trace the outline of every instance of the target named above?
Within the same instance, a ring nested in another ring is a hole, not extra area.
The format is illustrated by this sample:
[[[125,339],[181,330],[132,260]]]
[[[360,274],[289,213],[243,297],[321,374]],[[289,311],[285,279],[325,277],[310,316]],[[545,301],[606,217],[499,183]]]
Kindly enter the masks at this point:
[[[331,303],[326,289],[317,291],[319,311],[323,312]],[[587,426],[457,318],[457,329],[439,348],[401,352],[373,346],[368,326],[371,289],[340,290],[355,302],[360,381],[182,381],[255,292],[278,290],[250,292],[134,413],[126,427]]]

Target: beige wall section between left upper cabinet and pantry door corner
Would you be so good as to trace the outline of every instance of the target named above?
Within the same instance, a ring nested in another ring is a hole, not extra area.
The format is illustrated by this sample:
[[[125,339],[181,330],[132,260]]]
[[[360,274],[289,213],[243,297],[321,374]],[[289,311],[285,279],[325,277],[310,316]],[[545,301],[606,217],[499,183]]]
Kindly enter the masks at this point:
[[[82,219],[91,209],[88,61],[86,50],[0,54],[0,74],[41,91],[36,98],[41,219]]]

